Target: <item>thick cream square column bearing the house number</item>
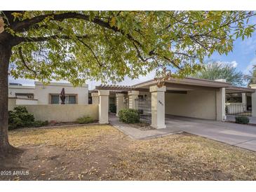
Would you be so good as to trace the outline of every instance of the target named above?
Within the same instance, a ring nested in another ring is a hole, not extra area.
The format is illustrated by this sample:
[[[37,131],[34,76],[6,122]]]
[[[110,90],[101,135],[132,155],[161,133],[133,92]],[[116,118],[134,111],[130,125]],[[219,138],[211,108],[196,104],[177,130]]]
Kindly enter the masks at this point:
[[[151,86],[149,92],[151,92],[151,127],[156,129],[166,128],[166,86],[162,86],[161,88],[157,85]]]

